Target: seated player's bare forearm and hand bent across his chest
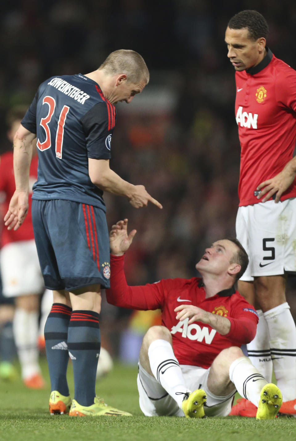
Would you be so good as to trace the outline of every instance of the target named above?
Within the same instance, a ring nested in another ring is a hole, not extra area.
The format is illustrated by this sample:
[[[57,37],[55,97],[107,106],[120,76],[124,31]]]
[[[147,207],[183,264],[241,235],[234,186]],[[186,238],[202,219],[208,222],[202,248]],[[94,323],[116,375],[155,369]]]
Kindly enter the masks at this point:
[[[230,331],[230,321],[226,317],[221,317],[217,314],[205,311],[198,306],[194,305],[180,305],[174,310],[177,312],[176,319],[183,321],[189,318],[188,324],[194,323],[194,321],[201,321],[206,325],[210,325],[213,329],[216,329],[219,334],[226,335]]]

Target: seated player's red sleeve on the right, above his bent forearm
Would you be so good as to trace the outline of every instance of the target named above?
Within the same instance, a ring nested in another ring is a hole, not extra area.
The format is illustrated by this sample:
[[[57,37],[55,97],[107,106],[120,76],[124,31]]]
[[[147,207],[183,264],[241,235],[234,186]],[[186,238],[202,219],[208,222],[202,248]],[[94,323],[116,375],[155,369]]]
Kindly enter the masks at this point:
[[[230,331],[225,337],[229,337],[239,346],[250,343],[256,335],[258,323],[258,314],[254,307],[245,299],[236,298],[231,315],[233,317],[227,317],[230,321]]]

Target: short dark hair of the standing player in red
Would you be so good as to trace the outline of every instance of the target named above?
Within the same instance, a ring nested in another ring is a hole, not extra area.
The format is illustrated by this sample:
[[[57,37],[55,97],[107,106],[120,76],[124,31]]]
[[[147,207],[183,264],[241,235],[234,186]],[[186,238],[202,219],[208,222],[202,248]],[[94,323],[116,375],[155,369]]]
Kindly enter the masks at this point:
[[[230,29],[247,28],[249,31],[248,37],[250,40],[257,40],[260,37],[267,37],[268,24],[266,19],[258,11],[247,9],[235,14],[228,22]]]

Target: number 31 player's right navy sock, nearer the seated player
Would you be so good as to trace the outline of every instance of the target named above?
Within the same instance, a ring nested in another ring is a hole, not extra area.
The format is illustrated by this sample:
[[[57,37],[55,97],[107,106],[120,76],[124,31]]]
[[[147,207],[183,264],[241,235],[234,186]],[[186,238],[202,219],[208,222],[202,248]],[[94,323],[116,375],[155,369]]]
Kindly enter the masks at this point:
[[[81,406],[94,404],[100,347],[99,314],[87,310],[72,311],[68,351],[73,364],[74,398]]]

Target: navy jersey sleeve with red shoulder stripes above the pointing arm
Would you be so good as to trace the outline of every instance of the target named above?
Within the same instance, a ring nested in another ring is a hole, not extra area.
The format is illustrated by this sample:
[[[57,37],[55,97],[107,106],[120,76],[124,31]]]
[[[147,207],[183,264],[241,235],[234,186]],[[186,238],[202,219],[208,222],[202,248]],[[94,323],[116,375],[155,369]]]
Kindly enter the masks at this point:
[[[86,135],[87,157],[110,159],[116,111],[106,101],[94,105],[80,120]]]

